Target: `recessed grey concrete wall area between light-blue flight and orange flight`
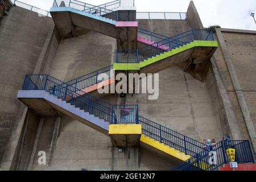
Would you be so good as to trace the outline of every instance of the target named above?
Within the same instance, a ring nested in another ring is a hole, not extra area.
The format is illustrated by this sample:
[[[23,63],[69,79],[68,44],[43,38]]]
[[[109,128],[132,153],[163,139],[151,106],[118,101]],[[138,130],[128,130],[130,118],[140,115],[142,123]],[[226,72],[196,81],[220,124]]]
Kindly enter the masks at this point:
[[[116,45],[115,39],[96,32],[64,39],[57,49],[50,75],[69,81],[108,67],[114,60]]]

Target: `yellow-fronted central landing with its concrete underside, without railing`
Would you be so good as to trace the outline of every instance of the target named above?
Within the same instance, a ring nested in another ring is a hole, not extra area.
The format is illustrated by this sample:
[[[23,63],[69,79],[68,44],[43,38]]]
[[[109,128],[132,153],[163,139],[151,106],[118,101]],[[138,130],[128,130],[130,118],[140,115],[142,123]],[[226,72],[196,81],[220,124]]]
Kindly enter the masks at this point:
[[[114,147],[138,146],[142,134],[142,125],[109,125],[109,137]]]

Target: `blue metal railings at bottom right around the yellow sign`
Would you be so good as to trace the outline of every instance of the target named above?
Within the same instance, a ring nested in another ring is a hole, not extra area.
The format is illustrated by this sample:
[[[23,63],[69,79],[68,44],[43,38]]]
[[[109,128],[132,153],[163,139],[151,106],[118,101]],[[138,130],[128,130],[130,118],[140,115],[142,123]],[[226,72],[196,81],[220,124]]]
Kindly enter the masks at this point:
[[[171,171],[213,171],[230,162],[225,152],[226,148],[234,148],[236,150],[235,159],[238,164],[254,163],[249,140],[222,140],[211,148],[193,155],[185,162],[172,168]],[[210,162],[210,151],[215,152],[215,163]]]

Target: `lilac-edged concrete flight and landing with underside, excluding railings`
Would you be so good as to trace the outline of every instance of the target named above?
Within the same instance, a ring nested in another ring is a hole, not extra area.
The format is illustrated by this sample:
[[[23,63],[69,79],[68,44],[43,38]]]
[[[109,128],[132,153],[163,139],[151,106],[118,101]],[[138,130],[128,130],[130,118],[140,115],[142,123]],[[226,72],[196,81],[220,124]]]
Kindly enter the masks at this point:
[[[60,113],[64,113],[108,135],[109,122],[62,101],[52,94],[47,93],[45,90],[19,90],[17,98],[42,117],[56,116],[57,111],[60,111]]]

